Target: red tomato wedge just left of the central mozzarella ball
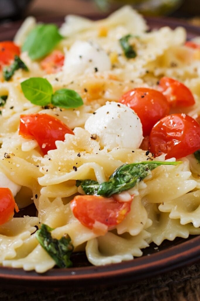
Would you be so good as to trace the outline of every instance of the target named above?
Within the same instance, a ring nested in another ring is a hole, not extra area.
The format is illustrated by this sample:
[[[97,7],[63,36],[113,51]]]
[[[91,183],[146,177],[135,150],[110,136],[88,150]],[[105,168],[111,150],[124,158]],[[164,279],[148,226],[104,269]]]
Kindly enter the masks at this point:
[[[48,114],[30,114],[20,116],[19,135],[34,138],[43,154],[56,149],[55,141],[64,141],[65,134],[73,131],[59,119]]]

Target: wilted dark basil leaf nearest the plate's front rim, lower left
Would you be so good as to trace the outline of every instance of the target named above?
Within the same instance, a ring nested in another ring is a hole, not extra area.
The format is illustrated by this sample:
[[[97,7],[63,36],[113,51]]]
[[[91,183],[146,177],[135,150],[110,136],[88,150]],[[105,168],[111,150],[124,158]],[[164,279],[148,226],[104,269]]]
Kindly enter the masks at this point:
[[[49,226],[42,224],[40,230],[36,232],[36,238],[59,268],[68,268],[72,266],[70,255],[74,249],[71,238],[68,234],[64,234],[59,240],[52,238],[52,230]]]

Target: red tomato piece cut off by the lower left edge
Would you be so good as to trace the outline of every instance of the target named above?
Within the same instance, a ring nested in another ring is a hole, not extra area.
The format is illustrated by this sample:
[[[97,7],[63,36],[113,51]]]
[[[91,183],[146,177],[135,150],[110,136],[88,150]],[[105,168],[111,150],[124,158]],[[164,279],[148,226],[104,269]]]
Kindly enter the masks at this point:
[[[0,225],[8,222],[14,215],[14,209],[19,211],[9,188],[0,188]]]

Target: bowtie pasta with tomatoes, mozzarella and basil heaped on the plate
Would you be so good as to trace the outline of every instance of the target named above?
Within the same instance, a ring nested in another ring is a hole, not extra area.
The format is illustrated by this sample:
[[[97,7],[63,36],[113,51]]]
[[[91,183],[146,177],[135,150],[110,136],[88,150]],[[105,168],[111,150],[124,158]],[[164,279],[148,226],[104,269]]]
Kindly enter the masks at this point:
[[[200,40],[184,28],[149,31],[128,6],[60,29],[28,17],[0,42],[0,113],[1,265],[105,265],[200,234]]]

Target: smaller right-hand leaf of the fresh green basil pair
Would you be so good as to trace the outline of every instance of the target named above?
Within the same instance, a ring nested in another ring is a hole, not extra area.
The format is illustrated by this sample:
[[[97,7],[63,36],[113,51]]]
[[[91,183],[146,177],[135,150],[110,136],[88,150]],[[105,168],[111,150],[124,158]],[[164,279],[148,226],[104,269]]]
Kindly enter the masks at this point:
[[[82,106],[83,100],[74,90],[60,89],[52,95],[51,103],[56,107],[73,109]]]

